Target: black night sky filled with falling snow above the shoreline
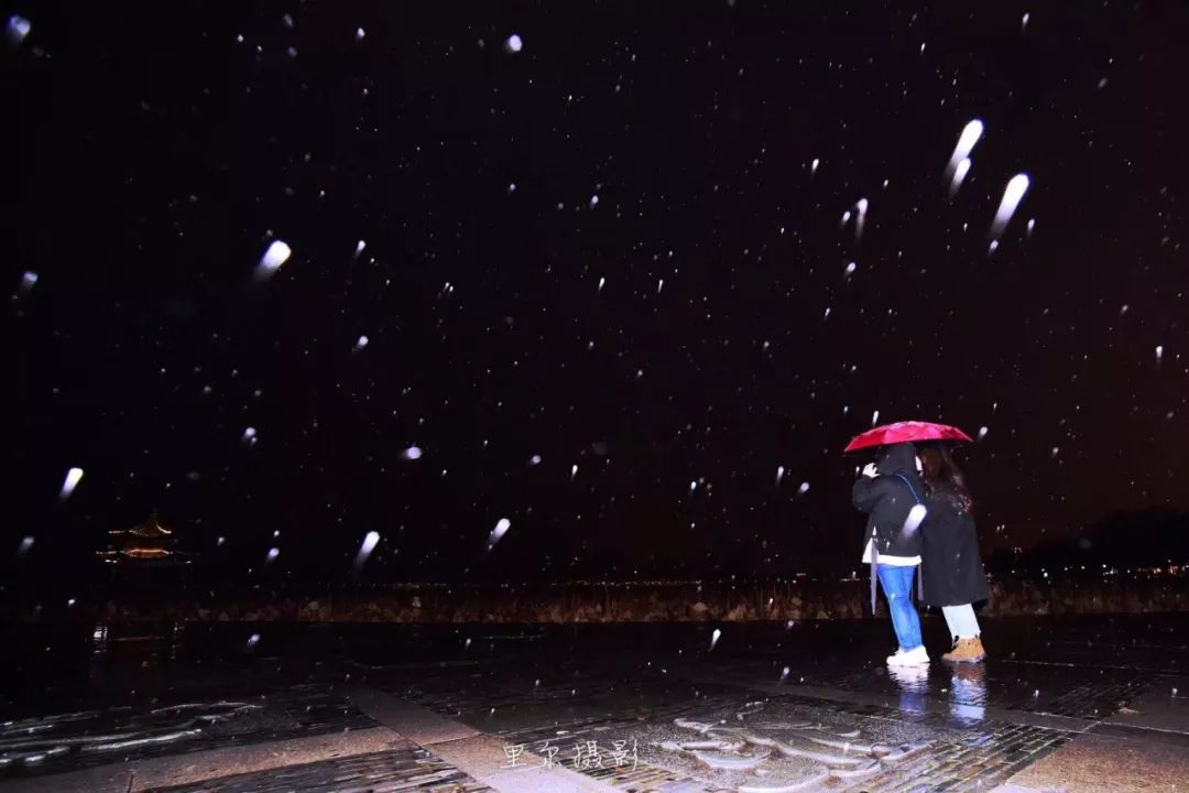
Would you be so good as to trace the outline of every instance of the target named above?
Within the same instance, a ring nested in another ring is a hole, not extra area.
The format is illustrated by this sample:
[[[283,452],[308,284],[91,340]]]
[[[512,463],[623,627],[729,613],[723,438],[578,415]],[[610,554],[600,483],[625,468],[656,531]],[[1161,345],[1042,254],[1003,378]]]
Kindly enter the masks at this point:
[[[1189,506],[1183,4],[250,5],[5,4],[7,568],[843,568],[876,411],[987,549]]]

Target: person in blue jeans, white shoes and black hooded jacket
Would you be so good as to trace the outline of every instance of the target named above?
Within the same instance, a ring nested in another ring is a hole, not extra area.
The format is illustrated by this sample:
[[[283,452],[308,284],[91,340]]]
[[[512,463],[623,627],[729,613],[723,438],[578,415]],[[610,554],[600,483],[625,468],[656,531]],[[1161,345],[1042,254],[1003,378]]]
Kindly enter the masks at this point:
[[[863,468],[851,490],[855,508],[868,514],[863,561],[872,566],[872,611],[877,579],[899,642],[899,649],[887,659],[889,666],[929,663],[920,640],[920,617],[911,600],[912,579],[921,560],[918,527],[926,509],[923,491],[912,443],[883,447],[879,461]]]

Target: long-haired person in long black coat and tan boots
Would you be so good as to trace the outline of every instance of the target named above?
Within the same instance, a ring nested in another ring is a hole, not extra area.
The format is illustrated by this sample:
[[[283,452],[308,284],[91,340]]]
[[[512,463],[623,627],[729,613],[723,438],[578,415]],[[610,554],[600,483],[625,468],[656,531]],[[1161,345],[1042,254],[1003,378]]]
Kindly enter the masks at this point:
[[[987,653],[973,604],[989,599],[990,587],[979,555],[974,502],[948,447],[923,446],[919,457],[927,508],[920,527],[921,600],[940,608],[954,637],[954,648],[942,659],[977,662]]]

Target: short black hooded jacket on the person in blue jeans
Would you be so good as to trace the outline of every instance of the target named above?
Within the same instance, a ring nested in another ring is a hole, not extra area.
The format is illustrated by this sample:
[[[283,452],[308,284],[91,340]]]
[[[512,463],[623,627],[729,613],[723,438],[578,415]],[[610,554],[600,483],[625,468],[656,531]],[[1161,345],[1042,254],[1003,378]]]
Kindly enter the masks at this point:
[[[924,486],[917,473],[917,447],[912,443],[886,446],[875,470],[880,476],[860,477],[850,492],[855,509],[868,514],[860,550],[874,536],[875,550],[882,556],[920,555],[920,531],[905,531],[908,512],[917,505],[917,498],[924,498]]]

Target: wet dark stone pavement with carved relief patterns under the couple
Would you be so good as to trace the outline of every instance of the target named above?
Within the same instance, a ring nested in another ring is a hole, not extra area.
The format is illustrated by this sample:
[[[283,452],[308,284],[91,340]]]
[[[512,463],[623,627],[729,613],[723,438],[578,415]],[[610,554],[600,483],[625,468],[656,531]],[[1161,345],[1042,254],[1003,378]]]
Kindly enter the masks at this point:
[[[988,619],[907,671],[881,621],[21,629],[0,789],[1185,791],[1185,628]]]

